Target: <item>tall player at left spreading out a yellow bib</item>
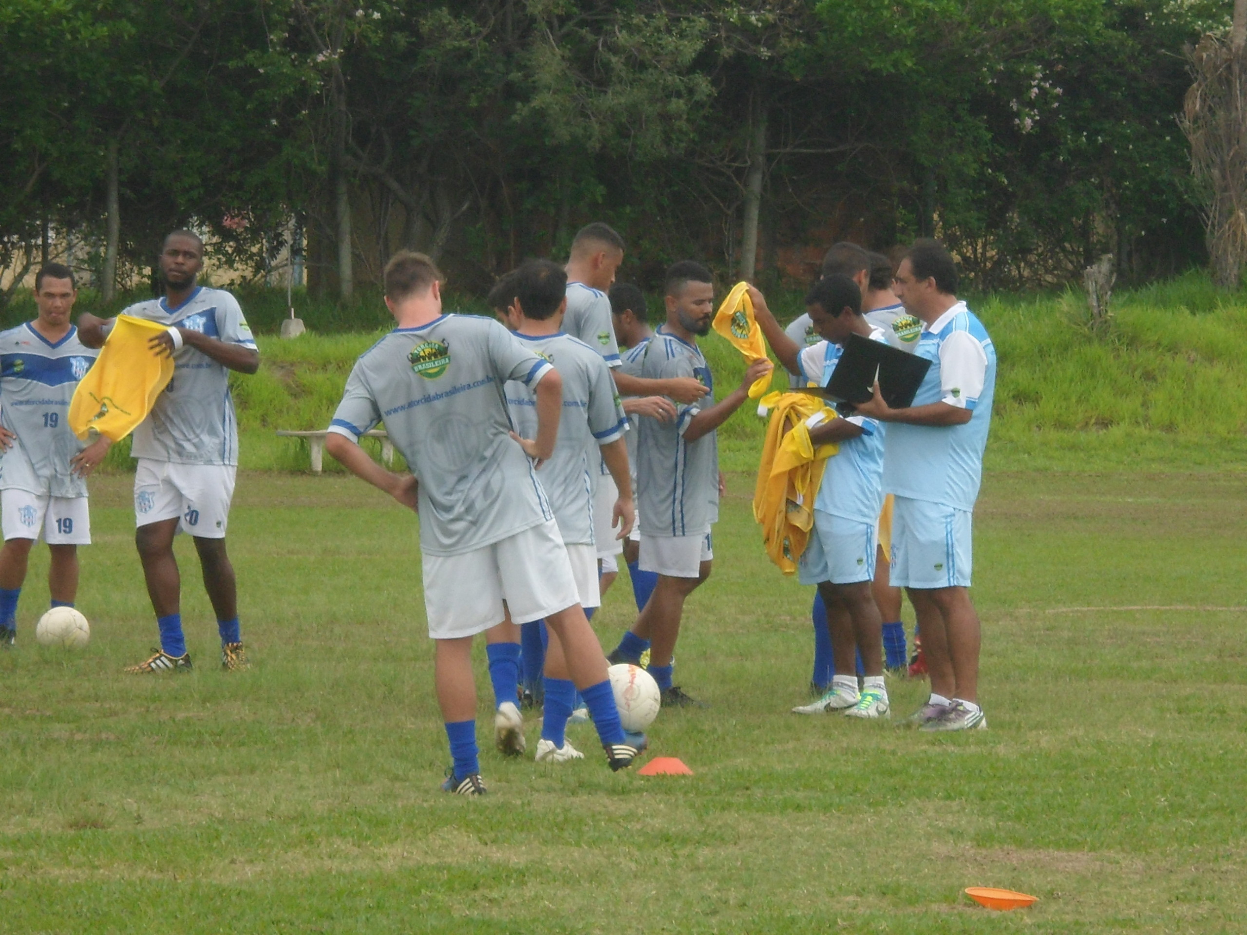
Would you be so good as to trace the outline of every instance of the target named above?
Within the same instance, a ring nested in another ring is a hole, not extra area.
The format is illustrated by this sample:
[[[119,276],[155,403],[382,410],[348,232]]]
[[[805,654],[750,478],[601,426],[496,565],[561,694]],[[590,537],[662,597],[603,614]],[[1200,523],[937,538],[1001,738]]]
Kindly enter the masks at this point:
[[[148,344],[173,358],[173,379],[147,419],[135,429],[135,544],[160,627],[160,648],[130,672],[191,668],[182,633],[182,582],[173,557],[178,529],[195,540],[203,587],[221,636],[221,666],[247,667],[238,625],[238,592],[226,551],[226,525],[238,469],[238,426],[229,396],[229,372],[253,374],[259,350],[237,299],[223,289],[196,285],[203,269],[203,241],[190,231],[165,238],[160,256],[165,298],[140,302],[125,314],[168,325]],[[82,343],[104,344],[112,320],[84,314]]]

